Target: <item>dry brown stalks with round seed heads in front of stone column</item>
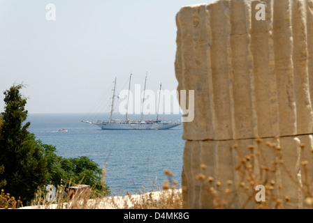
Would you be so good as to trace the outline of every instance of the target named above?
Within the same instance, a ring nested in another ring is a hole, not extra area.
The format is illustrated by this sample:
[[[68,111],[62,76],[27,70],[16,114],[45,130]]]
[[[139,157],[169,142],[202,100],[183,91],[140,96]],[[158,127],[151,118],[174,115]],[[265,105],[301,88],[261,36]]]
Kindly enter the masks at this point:
[[[299,169],[295,174],[295,171],[291,171],[294,167],[284,162],[284,148],[279,146],[279,137],[275,137],[275,140],[277,142],[256,139],[256,145],[244,149],[233,146],[238,157],[236,185],[232,180],[222,185],[218,179],[205,176],[202,172],[196,176],[196,180],[202,182],[204,194],[212,203],[212,208],[238,208],[238,201],[242,209],[313,208],[313,177],[309,171],[312,170],[312,167],[309,168],[312,163],[307,160],[308,154],[313,155],[312,148],[305,144],[299,145]],[[205,164],[200,165],[200,169],[206,168]],[[259,192],[256,185],[264,186],[265,201],[256,201],[256,193]],[[290,190],[298,193],[296,201],[288,196]]]

